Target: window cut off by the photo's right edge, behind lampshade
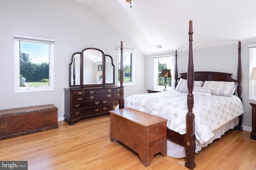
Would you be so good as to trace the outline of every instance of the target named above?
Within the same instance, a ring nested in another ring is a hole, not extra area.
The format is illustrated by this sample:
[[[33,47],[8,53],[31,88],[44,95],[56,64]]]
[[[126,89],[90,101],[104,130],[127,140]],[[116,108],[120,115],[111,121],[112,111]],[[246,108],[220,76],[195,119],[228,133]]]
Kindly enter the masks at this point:
[[[252,68],[256,67],[256,45],[249,45],[249,100],[256,100],[256,80],[251,80]]]

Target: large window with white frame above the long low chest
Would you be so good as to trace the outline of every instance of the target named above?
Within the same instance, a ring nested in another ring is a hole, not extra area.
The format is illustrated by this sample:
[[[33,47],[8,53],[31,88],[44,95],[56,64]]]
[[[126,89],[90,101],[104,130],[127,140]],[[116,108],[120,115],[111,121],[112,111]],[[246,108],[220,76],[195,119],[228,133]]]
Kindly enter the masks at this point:
[[[54,40],[14,35],[14,93],[54,90]]]

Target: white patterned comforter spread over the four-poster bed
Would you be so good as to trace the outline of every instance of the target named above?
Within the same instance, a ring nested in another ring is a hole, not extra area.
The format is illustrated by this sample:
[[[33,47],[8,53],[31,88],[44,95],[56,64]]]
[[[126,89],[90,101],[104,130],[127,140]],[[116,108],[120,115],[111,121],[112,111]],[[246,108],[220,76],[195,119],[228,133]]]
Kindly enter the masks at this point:
[[[186,133],[187,94],[175,90],[137,94],[124,98],[124,107],[168,119],[167,127],[180,134]],[[205,143],[231,119],[244,113],[237,96],[202,96],[194,94],[195,135],[198,143]]]

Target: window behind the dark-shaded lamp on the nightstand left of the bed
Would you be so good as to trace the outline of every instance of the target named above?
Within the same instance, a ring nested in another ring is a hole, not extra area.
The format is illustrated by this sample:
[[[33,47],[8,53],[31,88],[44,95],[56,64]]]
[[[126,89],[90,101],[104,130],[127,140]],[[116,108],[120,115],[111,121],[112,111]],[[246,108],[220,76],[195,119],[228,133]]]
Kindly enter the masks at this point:
[[[173,89],[174,82],[174,56],[165,55],[153,57],[154,59],[154,88],[164,89],[165,77],[161,77],[162,69],[168,69],[171,72],[171,77],[166,77],[166,90]]]

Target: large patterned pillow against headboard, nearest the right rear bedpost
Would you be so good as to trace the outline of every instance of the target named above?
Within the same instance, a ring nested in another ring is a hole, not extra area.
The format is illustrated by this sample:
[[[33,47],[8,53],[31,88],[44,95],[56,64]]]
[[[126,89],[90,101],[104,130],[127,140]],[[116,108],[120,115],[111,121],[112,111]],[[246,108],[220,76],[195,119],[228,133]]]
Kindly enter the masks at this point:
[[[212,94],[218,96],[232,96],[236,90],[235,82],[205,81],[204,88],[212,88]]]

